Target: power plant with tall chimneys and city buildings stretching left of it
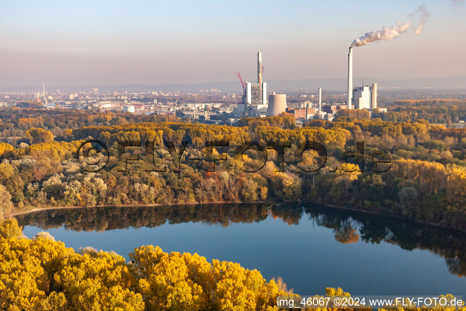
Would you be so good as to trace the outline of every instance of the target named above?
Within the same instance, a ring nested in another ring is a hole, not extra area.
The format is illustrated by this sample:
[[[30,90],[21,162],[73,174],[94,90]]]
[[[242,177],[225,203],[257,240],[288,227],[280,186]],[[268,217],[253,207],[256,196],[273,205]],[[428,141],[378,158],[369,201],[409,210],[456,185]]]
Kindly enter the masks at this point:
[[[361,86],[353,87],[352,47],[349,48],[348,54],[347,97],[339,97],[342,101],[346,98],[346,103],[335,103],[335,100],[322,103],[322,88],[315,90],[316,94],[312,95],[311,92],[307,92],[308,95],[302,93],[298,95],[292,91],[290,97],[283,92],[267,90],[267,83],[262,77],[263,69],[262,54],[258,52],[257,82],[243,81],[240,73],[235,72],[242,87],[240,95],[225,93],[217,89],[199,90],[199,92],[192,93],[180,93],[179,91],[130,93],[127,91],[99,92],[98,88],[92,88],[79,93],[66,93],[60,90],[49,93],[42,84],[41,92],[33,92],[33,94],[2,93],[5,95],[5,101],[0,102],[0,106],[22,103],[22,108],[95,109],[115,113],[176,115],[191,118],[193,122],[214,124],[235,124],[243,117],[273,117],[283,112],[292,114],[297,124],[307,122],[309,119],[332,121],[334,114],[343,109],[372,111],[377,108],[377,83],[364,85],[363,79]],[[26,104],[25,101],[27,101]]]

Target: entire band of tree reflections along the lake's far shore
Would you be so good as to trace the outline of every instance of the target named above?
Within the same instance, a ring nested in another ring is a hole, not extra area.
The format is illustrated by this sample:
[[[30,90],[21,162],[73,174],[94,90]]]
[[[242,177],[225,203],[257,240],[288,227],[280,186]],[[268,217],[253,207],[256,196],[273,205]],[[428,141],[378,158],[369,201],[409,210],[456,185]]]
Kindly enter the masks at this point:
[[[466,233],[400,218],[325,207],[315,204],[204,204],[156,207],[89,207],[53,209],[18,215],[21,226],[73,231],[158,227],[165,223],[200,222],[227,227],[233,223],[260,222],[269,215],[297,225],[306,213],[318,226],[333,229],[335,240],[355,243],[382,241],[402,249],[428,249],[445,257],[449,271],[466,275]],[[359,230],[359,235],[357,231]]]

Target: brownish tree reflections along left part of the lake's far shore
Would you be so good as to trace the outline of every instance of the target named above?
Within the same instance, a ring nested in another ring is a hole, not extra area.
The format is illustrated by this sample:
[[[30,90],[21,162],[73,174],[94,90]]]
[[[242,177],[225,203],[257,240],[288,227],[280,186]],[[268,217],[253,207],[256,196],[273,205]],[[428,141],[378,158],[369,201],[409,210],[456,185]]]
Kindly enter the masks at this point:
[[[253,223],[265,220],[269,214],[285,222],[297,224],[302,207],[286,209],[267,204],[203,204],[155,207],[82,207],[52,209],[18,215],[21,226],[42,229],[60,228],[73,231],[113,230],[121,228],[158,227],[165,223],[201,222],[227,227],[232,223]]]

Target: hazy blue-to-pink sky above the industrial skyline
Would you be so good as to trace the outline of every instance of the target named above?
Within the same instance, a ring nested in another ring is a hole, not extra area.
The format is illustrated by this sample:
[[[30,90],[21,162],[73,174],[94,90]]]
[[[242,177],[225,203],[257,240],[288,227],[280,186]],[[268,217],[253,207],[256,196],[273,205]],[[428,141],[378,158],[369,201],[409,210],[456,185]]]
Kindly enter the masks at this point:
[[[425,5],[424,30],[354,48],[354,76],[466,74],[466,1],[0,0],[0,85],[347,76],[351,42]]]

